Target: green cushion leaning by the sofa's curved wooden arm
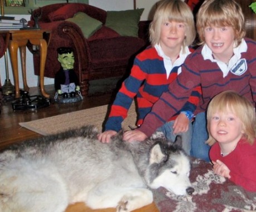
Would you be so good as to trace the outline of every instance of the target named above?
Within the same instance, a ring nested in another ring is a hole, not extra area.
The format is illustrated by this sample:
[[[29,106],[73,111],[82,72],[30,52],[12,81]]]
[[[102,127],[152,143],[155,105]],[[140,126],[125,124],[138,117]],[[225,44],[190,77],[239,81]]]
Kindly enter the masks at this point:
[[[98,29],[102,27],[102,23],[95,18],[88,16],[86,13],[77,12],[73,18],[68,18],[65,21],[76,23],[83,33],[83,36],[89,38]]]

